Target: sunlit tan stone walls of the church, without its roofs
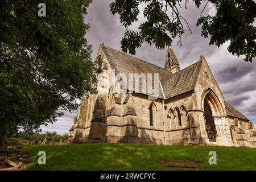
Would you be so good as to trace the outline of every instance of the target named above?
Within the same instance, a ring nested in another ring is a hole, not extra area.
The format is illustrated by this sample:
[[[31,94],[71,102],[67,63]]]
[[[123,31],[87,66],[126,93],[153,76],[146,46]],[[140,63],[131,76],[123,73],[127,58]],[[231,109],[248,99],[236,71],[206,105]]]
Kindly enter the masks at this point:
[[[98,75],[97,88],[100,92],[82,97],[79,113],[69,131],[70,142],[256,147],[253,123],[226,115],[224,97],[203,56],[200,57],[203,63],[195,90],[164,100],[163,105],[160,98],[148,100],[145,94],[108,90],[111,66],[101,49],[98,55],[101,55],[97,59],[102,60],[103,68],[103,73]],[[115,79],[114,82],[118,81]],[[208,139],[204,102],[208,102],[212,110],[216,142]],[[153,110],[152,126],[150,106]]]

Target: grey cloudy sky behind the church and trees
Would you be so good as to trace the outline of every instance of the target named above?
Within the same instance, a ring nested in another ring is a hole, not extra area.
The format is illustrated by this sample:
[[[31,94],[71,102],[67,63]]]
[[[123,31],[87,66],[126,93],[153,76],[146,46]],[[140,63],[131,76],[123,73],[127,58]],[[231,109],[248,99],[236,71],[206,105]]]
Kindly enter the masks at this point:
[[[121,51],[120,41],[125,29],[119,23],[118,16],[111,15],[109,3],[111,0],[93,0],[89,6],[85,22],[90,23],[90,30],[86,34],[88,42],[93,46],[92,58],[100,43]],[[247,118],[256,123],[256,59],[253,63],[246,63],[243,57],[233,56],[227,51],[228,43],[221,47],[209,46],[209,39],[200,36],[200,27],[196,27],[196,20],[201,10],[196,9],[192,1],[188,3],[187,10],[181,9],[181,15],[189,22],[192,34],[187,30],[182,38],[183,46],[177,45],[177,40],[172,45],[180,67],[185,68],[199,60],[204,55],[210,69],[216,78],[225,100],[241,111]],[[212,13],[212,7],[207,7],[204,14]],[[143,16],[139,16],[143,20]],[[133,27],[137,27],[134,24]],[[164,66],[166,49],[159,50],[154,46],[143,45],[137,49],[136,57],[149,63]],[[57,131],[59,134],[68,133],[76,114],[65,113],[54,124],[42,126],[43,132]]]

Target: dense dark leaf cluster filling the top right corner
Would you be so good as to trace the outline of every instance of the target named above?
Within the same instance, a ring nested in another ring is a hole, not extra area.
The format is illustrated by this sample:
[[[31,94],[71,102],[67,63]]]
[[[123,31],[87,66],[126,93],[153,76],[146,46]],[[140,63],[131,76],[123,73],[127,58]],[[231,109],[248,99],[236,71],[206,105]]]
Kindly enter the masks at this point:
[[[213,1],[217,6],[214,17],[202,17],[201,35],[210,36],[210,44],[220,47],[230,41],[228,51],[233,55],[245,55],[245,61],[252,61],[256,55],[256,3],[254,1]]]

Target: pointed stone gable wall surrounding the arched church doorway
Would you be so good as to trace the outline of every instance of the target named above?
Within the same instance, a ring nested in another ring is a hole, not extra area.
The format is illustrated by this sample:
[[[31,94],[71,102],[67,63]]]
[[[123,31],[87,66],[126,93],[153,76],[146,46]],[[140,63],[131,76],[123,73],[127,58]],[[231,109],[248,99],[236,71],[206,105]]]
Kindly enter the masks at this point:
[[[200,131],[203,143],[208,145],[224,145],[232,146],[232,138],[228,128],[228,121],[226,119],[226,109],[224,104],[224,96],[221,93],[218,84],[210,71],[210,68],[205,61],[204,56],[200,57],[203,61],[200,69],[200,75],[197,78],[195,86],[196,105],[195,110],[204,111],[204,102],[208,102],[211,107],[215,127],[217,130],[216,142],[209,142],[207,132],[205,130],[204,113],[199,114]]]

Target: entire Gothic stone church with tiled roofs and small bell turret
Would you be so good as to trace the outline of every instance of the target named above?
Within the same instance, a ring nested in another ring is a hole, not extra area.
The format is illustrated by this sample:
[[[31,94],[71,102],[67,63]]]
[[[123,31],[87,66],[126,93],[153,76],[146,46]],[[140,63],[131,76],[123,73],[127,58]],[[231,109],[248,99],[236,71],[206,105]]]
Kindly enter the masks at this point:
[[[98,92],[81,98],[69,142],[256,147],[253,122],[225,101],[204,56],[180,69],[168,48],[161,68],[100,44],[96,63],[102,67]],[[131,73],[139,82],[123,87],[120,82]],[[141,86],[148,73],[157,73],[147,82],[154,82],[157,97]]]

